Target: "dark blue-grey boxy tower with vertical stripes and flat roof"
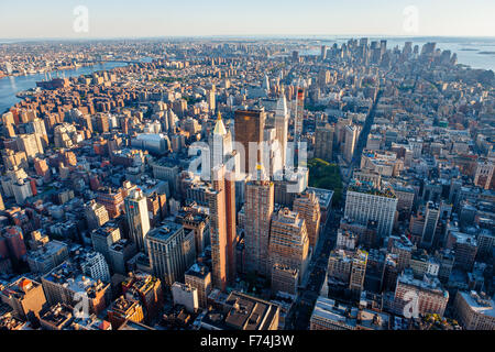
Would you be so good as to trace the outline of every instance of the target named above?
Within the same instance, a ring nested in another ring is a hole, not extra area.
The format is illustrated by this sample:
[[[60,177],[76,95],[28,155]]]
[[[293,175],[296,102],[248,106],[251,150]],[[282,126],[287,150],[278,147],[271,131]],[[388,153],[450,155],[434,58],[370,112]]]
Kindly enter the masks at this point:
[[[175,282],[183,280],[186,272],[184,255],[184,227],[164,221],[160,228],[153,229],[146,235],[150,265],[154,275],[170,287]]]

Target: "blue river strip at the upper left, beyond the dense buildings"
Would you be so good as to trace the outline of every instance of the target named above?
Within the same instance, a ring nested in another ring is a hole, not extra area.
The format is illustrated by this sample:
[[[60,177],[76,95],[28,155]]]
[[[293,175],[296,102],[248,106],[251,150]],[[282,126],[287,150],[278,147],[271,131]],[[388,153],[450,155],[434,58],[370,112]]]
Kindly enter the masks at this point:
[[[52,78],[58,77],[79,77],[80,75],[89,75],[97,70],[110,70],[116,67],[125,66],[125,63],[102,63],[94,66],[85,66],[76,69],[66,69],[52,72]],[[48,74],[46,74],[48,77]],[[15,95],[22,90],[36,87],[36,81],[45,79],[45,74],[18,76],[18,77],[3,77],[0,78],[0,113],[9,110],[13,105],[22,99],[15,97]]]

